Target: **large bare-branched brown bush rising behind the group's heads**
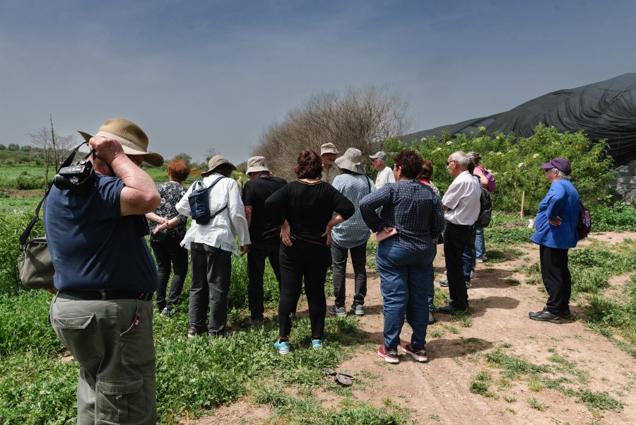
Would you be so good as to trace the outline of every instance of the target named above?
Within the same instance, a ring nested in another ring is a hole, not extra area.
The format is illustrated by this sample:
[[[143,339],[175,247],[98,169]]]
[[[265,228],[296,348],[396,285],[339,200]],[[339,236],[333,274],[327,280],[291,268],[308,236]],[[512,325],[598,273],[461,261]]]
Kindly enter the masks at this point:
[[[341,153],[358,148],[368,158],[387,138],[406,133],[407,106],[399,93],[384,86],[319,93],[290,110],[283,122],[267,127],[252,154],[264,156],[273,173],[288,179],[295,177],[292,168],[300,151],[319,153],[327,142]]]

